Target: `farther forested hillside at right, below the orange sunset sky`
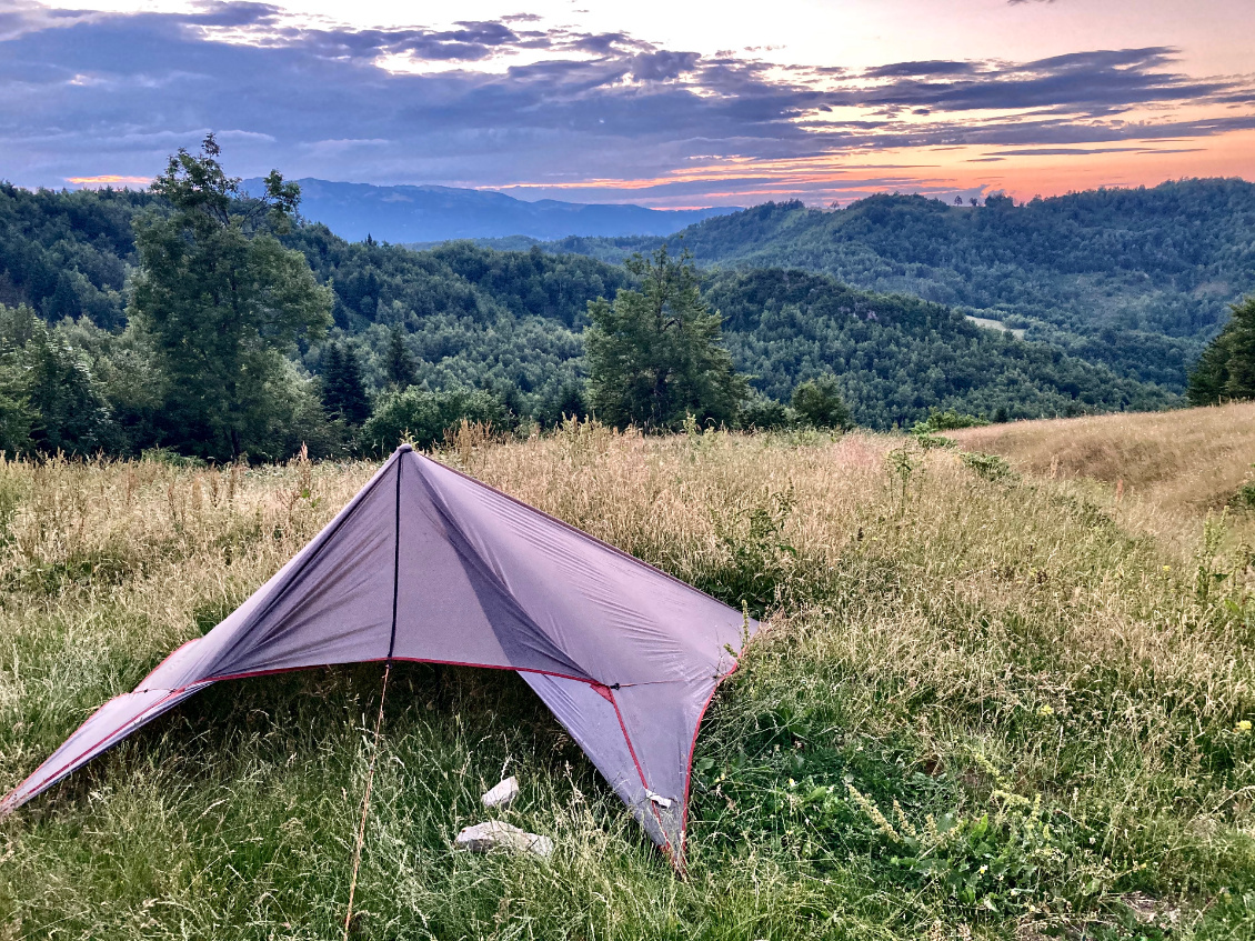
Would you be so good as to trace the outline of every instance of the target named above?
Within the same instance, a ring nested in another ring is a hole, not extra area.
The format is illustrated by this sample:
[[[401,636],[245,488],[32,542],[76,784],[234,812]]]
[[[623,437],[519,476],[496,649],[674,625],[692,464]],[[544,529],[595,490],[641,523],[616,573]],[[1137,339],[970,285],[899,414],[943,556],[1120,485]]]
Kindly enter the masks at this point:
[[[1017,205],[875,196],[767,203],[679,233],[699,265],[799,267],[961,307],[1177,391],[1227,305],[1255,290],[1255,184],[1190,179]],[[620,261],[659,238],[565,238]],[[675,237],[670,238],[676,242]]]

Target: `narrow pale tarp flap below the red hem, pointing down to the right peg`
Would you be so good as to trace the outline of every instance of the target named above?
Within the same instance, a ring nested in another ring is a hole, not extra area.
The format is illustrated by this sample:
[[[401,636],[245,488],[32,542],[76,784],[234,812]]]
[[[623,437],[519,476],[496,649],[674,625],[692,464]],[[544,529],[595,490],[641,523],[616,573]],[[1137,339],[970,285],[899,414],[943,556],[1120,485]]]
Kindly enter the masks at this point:
[[[668,834],[650,805],[645,784],[633,759],[614,705],[587,683],[543,674],[520,674],[562,723],[649,838],[666,846]]]

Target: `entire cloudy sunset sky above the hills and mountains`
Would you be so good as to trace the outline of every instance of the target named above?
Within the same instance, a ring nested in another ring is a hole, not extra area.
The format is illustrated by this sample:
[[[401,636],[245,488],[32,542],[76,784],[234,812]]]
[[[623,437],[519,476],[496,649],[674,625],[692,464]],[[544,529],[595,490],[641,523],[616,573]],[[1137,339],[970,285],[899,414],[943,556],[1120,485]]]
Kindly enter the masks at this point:
[[[521,5],[523,4],[523,5]],[[0,178],[658,208],[1255,179],[1251,0],[0,0]]]

